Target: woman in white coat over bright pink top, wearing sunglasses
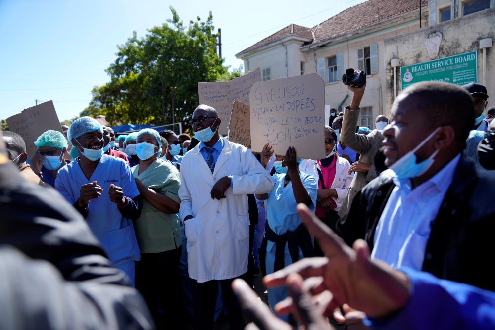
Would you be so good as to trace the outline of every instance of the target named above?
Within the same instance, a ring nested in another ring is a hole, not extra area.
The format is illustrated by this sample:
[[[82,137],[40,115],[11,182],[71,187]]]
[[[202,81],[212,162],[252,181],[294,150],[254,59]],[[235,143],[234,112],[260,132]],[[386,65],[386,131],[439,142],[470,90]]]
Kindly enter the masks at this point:
[[[347,159],[339,157],[335,150],[336,143],[337,134],[330,126],[325,126],[325,158],[305,161],[300,167],[301,171],[313,175],[318,181],[316,216],[332,230],[335,230],[339,220],[337,212],[346,199],[352,181],[350,164]],[[315,255],[323,256],[316,242]]]

